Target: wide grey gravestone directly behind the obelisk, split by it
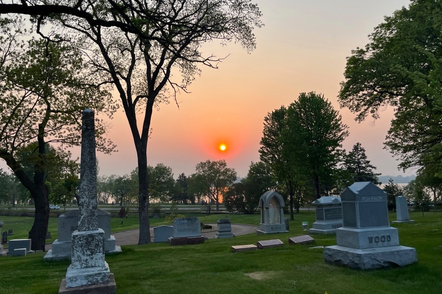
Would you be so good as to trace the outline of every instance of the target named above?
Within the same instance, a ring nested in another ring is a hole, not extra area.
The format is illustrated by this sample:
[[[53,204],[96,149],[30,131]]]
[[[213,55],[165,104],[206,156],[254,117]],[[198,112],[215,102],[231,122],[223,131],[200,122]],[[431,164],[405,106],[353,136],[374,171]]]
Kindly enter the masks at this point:
[[[44,260],[71,259],[72,233],[78,230],[79,210],[74,209],[58,217],[58,239],[48,250]],[[105,253],[121,252],[121,246],[115,244],[115,237],[111,235],[111,214],[98,209],[98,227],[105,232]]]

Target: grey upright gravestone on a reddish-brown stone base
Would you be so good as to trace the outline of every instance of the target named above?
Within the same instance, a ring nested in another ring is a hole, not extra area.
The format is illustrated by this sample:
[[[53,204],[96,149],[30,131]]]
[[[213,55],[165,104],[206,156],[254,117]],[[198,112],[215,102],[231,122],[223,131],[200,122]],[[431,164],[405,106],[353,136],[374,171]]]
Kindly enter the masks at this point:
[[[167,238],[167,242],[170,245],[186,245],[204,243],[204,239],[198,218],[178,218],[173,221],[172,237]]]

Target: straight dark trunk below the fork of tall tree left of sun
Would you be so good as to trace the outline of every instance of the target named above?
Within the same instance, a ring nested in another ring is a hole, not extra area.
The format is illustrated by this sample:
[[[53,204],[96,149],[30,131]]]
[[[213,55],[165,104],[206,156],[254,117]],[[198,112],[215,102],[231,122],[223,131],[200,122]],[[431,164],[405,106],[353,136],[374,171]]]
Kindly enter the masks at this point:
[[[138,216],[139,237],[138,245],[150,243],[149,229],[149,177],[147,174],[146,148],[141,144],[136,145],[138,156]]]

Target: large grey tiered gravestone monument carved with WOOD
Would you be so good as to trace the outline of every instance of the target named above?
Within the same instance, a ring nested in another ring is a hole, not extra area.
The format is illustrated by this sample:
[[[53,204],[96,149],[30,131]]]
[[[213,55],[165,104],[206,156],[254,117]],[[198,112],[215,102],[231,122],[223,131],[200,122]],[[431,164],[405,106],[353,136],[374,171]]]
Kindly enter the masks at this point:
[[[387,193],[371,182],[356,182],[341,194],[343,227],[337,245],[324,248],[326,262],[354,269],[405,266],[417,262],[416,249],[399,245],[389,225]]]

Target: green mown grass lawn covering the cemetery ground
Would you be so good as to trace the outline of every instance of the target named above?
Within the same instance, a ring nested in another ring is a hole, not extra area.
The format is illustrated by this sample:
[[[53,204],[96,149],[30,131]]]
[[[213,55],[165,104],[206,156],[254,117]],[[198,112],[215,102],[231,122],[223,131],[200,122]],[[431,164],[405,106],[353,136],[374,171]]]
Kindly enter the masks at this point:
[[[295,215],[295,221],[290,221],[290,233],[286,234],[250,234],[233,239],[210,239],[204,244],[187,246],[163,243],[128,245],[122,246],[122,253],[106,256],[106,261],[115,274],[117,293],[120,294],[441,293],[442,212],[428,212],[424,217],[421,213],[412,212],[410,216],[415,220],[413,224],[392,224],[399,229],[400,244],[417,250],[418,263],[404,268],[351,270],[326,264],[323,250],[309,247],[335,245],[334,235],[312,235],[315,238],[313,245],[288,245],[288,238],[304,234],[302,221],[309,221],[311,225],[313,212]],[[200,221],[211,223],[224,217],[236,223],[259,222],[259,215],[200,216]],[[3,228],[7,229],[5,219],[1,217],[5,222]],[[395,219],[391,213],[390,220]],[[138,218],[134,220],[124,219],[122,226],[136,225]],[[121,219],[112,219],[112,226],[114,221],[121,222]],[[151,221],[162,224],[164,219]],[[285,245],[242,253],[230,250],[232,245],[256,244],[257,241],[270,239],[280,239]],[[0,294],[57,293],[70,263],[45,262],[44,254],[1,257]]]

